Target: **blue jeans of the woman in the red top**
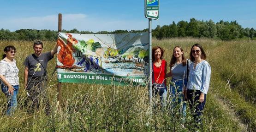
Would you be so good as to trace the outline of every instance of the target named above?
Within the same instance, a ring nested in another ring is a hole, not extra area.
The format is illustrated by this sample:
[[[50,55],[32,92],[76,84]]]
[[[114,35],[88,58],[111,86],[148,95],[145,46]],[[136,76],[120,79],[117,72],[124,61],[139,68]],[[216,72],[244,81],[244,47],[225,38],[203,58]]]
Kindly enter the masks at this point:
[[[156,98],[157,94],[159,94],[160,101],[161,101],[161,107],[166,106],[166,98],[167,98],[167,88],[164,83],[154,83],[153,85],[153,93],[154,93],[154,99]]]

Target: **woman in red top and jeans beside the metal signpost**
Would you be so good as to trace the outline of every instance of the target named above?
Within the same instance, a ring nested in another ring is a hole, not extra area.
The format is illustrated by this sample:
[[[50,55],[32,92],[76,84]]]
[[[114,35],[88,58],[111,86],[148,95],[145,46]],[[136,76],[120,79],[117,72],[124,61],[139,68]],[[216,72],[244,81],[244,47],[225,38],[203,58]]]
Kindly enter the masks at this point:
[[[167,87],[166,87],[166,72],[167,65],[166,60],[163,60],[164,49],[159,46],[153,47],[152,49],[152,84],[153,84],[153,93],[155,93],[154,98],[157,94],[160,96],[161,106],[166,105],[167,98]]]

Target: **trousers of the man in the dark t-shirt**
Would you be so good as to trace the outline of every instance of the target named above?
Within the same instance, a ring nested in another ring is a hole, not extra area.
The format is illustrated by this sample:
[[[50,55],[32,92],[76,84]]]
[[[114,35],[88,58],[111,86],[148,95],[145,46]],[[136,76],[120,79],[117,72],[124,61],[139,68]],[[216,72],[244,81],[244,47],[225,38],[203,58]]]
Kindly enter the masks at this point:
[[[29,105],[30,110],[34,111],[39,110],[40,103],[45,104],[46,113],[50,112],[50,104],[49,99],[46,92],[47,81],[42,79],[33,79],[28,78],[28,98],[26,100],[26,104]]]

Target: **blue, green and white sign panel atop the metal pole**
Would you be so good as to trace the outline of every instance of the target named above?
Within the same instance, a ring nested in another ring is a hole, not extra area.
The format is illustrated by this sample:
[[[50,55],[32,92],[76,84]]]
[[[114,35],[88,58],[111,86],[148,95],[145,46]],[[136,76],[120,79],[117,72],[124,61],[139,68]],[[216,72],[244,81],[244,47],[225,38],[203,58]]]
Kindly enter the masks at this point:
[[[145,17],[159,19],[159,0],[145,0]]]

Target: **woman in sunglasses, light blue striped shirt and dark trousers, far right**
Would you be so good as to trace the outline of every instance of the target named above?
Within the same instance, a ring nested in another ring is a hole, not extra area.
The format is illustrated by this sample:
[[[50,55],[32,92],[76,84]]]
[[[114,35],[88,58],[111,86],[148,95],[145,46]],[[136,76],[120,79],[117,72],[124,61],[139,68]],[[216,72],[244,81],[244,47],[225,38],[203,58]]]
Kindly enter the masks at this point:
[[[197,128],[202,128],[202,110],[209,89],[211,66],[206,61],[206,54],[200,44],[192,46],[190,60],[186,97]]]

